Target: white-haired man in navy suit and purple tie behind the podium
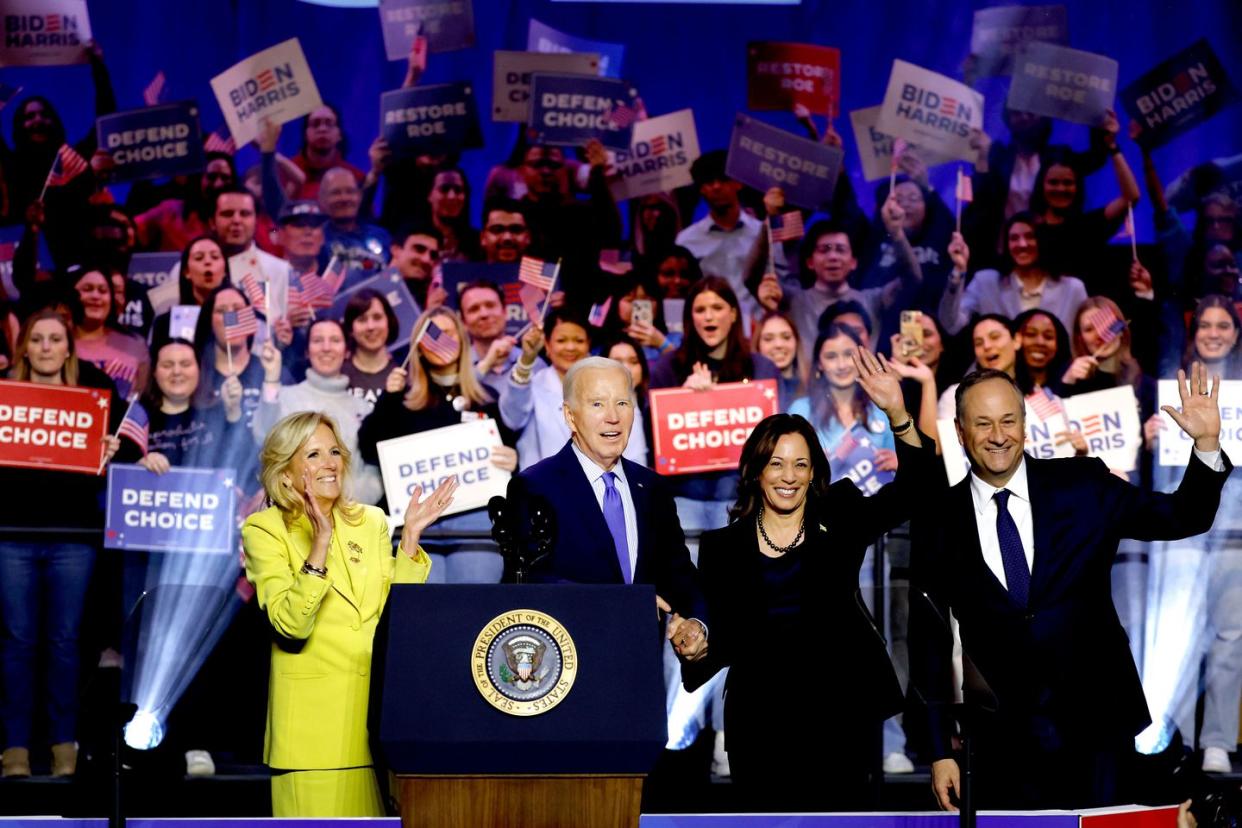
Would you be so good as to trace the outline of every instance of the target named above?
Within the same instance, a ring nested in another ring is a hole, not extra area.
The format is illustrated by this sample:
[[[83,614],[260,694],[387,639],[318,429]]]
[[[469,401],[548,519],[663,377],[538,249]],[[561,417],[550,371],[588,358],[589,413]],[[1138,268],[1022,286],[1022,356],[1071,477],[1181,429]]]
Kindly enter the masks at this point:
[[[630,371],[600,356],[580,360],[565,374],[564,396],[570,442],[509,482],[523,546],[534,546],[534,503],[543,498],[554,514],[550,551],[529,580],[655,585],[657,607],[673,613],[667,636],[674,649],[702,658],[707,606],[677,506],[655,472],[621,457],[637,405]],[[505,581],[513,580],[510,565]]]

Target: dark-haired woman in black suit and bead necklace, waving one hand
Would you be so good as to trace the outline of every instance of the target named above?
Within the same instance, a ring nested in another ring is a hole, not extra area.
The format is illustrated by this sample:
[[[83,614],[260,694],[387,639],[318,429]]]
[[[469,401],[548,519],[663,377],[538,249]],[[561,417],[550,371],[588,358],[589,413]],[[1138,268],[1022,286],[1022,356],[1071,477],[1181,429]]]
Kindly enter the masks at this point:
[[[693,690],[730,668],[729,765],[745,806],[758,811],[866,807],[881,724],[902,709],[884,639],[858,595],[858,567],[877,535],[909,519],[935,456],[887,360],[857,359],[859,384],[898,438],[897,478],[871,498],[848,479],[830,484],[811,425],[774,415],[743,448],[730,524],[699,545],[710,644],[707,658],[682,664],[682,682]]]

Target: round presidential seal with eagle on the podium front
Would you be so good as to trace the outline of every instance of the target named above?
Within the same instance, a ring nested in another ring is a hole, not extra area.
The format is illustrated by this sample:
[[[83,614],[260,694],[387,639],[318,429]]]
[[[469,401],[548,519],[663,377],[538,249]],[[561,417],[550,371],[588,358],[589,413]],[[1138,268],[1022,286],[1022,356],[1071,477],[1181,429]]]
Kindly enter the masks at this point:
[[[513,716],[535,716],[564,701],[578,677],[578,649],[560,622],[512,610],[483,627],[471,652],[474,686]]]

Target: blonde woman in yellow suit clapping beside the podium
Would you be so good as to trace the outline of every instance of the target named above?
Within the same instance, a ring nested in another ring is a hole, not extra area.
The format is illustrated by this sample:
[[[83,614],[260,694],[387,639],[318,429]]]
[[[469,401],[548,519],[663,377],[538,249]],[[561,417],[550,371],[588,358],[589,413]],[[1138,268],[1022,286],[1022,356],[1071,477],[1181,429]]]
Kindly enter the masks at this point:
[[[284,417],[260,456],[271,505],[242,526],[246,576],[276,632],[263,758],[277,817],[384,816],[366,739],[371,642],[389,587],[422,583],[419,536],[457,480],[414,490],[396,556],[384,513],[353,503],[350,454],[318,412]]]

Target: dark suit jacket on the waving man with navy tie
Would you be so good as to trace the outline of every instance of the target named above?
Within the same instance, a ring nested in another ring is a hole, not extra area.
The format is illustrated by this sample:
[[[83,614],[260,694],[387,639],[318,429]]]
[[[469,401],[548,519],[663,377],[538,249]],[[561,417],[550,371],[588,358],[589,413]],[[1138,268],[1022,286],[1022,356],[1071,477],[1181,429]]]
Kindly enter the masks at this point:
[[[939,621],[951,611],[965,654],[995,693],[990,721],[1000,734],[1053,750],[1067,737],[1103,744],[1141,731],[1151,716],[1112,597],[1118,541],[1207,531],[1232,469],[1223,461],[1217,473],[1192,457],[1177,490],[1163,494],[1130,485],[1095,458],[1026,457],[1035,559],[1025,608],[984,562],[970,477],[943,490],[915,528],[912,686],[930,703],[951,700],[951,639]],[[920,591],[935,612],[923,611]],[[949,756],[951,722],[935,704],[930,724],[933,758]]]

